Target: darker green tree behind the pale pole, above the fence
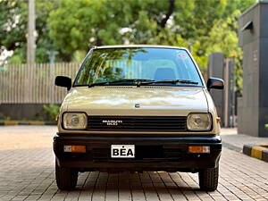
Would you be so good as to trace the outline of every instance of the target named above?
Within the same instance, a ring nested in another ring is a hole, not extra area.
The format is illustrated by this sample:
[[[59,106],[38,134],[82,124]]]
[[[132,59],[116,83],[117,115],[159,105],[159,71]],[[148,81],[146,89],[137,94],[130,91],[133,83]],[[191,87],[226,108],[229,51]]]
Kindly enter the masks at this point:
[[[56,9],[57,1],[36,1],[36,62],[49,61],[48,51],[56,50],[64,60],[68,56],[57,49],[49,38],[46,19],[48,14]],[[21,0],[0,1],[0,46],[2,50],[13,51],[9,63],[26,63],[27,58],[27,28],[28,2]],[[64,57],[65,56],[65,57]],[[69,58],[71,56],[69,55]]]

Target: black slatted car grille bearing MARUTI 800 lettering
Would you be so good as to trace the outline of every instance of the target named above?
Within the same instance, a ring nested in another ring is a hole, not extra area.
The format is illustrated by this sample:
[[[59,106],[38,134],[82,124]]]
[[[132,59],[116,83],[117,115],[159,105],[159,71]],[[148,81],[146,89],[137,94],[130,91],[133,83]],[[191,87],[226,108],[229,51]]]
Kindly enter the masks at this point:
[[[88,130],[186,131],[186,116],[88,116]]]

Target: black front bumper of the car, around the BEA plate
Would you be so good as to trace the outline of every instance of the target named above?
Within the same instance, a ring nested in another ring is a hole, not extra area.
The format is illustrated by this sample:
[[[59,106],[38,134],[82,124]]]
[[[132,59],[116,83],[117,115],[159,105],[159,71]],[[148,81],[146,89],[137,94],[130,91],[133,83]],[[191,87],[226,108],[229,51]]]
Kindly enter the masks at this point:
[[[112,159],[111,145],[135,145],[134,159]],[[66,153],[63,146],[83,145],[86,153]],[[209,154],[188,153],[188,146],[209,146]],[[222,140],[216,135],[133,136],[79,135],[54,136],[54,154],[60,166],[80,171],[165,171],[198,172],[219,165]]]

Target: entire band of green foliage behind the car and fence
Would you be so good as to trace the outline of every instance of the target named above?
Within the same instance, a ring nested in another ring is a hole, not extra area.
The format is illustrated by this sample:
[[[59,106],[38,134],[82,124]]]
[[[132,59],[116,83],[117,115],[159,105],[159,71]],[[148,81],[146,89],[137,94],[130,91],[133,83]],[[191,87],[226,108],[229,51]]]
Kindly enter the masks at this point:
[[[255,0],[36,0],[36,62],[48,62],[48,51],[58,52],[57,62],[80,62],[91,46],[186,46],[204,71],[208,54],[214,51],[234,57],[240,86],[242,54],[237,18],[254,3]],[[10,63],[26,62],[27,5],[27,1],[0,1],[0,45],[14,51]]]

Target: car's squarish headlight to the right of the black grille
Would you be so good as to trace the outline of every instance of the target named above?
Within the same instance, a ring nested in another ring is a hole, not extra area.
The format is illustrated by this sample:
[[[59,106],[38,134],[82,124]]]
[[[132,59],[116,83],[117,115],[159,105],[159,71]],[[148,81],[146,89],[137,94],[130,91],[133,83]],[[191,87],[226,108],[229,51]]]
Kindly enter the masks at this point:
[[[211,130],[212,119],[210,113],[190,113],[187,118],[188,130]]]

